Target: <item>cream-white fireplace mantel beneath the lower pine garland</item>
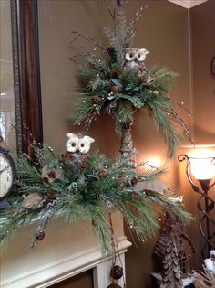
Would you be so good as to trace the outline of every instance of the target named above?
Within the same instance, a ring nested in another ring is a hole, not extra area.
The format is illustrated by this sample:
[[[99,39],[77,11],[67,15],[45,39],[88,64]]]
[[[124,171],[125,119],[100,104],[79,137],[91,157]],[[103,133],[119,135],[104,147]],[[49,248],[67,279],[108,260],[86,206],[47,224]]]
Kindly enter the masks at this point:
[[[131,243],[124,236],[120,213],[112,214],[113,228],[118,238],[120,261]],[[69,225],[55,219],[46,229],[46,237],[29,249],[34,227],[28,226],[15,235],[1,252],[2,288],[48,287],[80,272],[93,268],[94,288],[107,287],[112,261],[102,257],[92,226],[87,221]],[[121,264],[119,259],[117,263]],[[122,280],[118,282],[122,285]]]

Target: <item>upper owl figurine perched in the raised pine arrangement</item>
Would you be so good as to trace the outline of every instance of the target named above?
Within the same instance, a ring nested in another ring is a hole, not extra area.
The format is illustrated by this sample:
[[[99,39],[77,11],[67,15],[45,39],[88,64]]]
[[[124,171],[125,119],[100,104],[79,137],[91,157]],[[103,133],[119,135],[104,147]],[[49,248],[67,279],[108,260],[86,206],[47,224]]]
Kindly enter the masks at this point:
[[[138,76],[141,78],[145,74],[146,66],[144,60],[149,54],[149,51],[145,48],[126,48],[126,65],[125,69],[138,68]]]

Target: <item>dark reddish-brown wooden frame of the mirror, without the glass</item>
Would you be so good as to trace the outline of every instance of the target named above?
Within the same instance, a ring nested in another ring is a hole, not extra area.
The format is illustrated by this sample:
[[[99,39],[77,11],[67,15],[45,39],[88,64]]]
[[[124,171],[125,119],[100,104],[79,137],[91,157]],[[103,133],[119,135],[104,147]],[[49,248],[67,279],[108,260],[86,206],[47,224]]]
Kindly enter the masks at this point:
[[[17,155],[43,142],[37,0],[11,0]]]

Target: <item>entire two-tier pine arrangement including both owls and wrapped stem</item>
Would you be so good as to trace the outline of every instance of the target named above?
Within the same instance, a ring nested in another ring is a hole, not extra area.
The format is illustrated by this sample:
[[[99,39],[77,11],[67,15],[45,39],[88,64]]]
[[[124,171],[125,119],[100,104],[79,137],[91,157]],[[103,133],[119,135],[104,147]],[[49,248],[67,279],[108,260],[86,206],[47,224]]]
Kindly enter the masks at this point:
[[[4,217],[1,245],[32,220],[38,223],[30,245],[34,247],[36,241],[46,236],[50,219],[62,217],[70,223],[87,219],[95,229],[103,253],[107,254],[113,252],[109,222],[113,209],[122,213],[140,240],[152,237],[159,227],[158,209],[161,213],[168,211],[186,224],[192,219],[174,192],[167,189],[158,193],[138,185],[162,175],[165,169],[135,163],[131,137],[135,112],[145,108],[150,111],[167,141],[168,158],[174,156],[183,132],[189,134],[189,129],[174,111],[175,101],[169,97],[169,87],[176,74],[166,68],[147,68],[144,59],[148,50],[130,48],[143,8],[128,23],[123,1],[118,4],[118,11],[114,12],[106,5],[113,18],[113,29],[105,29],[107,46],[85,34],[73,33],[73,41],[84,37],[97,46],[103,56],[86,53],[87,63],[80,68],[80,77],[85,80],[84,92],[78,94],[72,112],[75,123],[84,123],[86,128],[101,114],[115,118],[121,137],[118,159],[110,160],[97,151],[89,154],[94,141],[89,136],[68,133],[64,155],[56,155],[46,144],[33,142],[35,157],[19,157],[17,191],[10,199],[11,208],[1,211]],[[141,174],[136,171],[137,166],[143,168]]]

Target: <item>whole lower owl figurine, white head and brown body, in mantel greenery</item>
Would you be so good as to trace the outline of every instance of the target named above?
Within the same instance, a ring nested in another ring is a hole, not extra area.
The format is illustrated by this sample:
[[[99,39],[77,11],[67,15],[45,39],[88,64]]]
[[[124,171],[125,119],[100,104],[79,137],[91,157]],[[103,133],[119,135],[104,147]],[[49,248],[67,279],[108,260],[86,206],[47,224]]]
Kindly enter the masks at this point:
[[[74,161],[81,170],[84,169],[87,165],[90,145],[95,140],[89,136],[78,136],[75,133],[67,133],[66,136],[65,158]]]

